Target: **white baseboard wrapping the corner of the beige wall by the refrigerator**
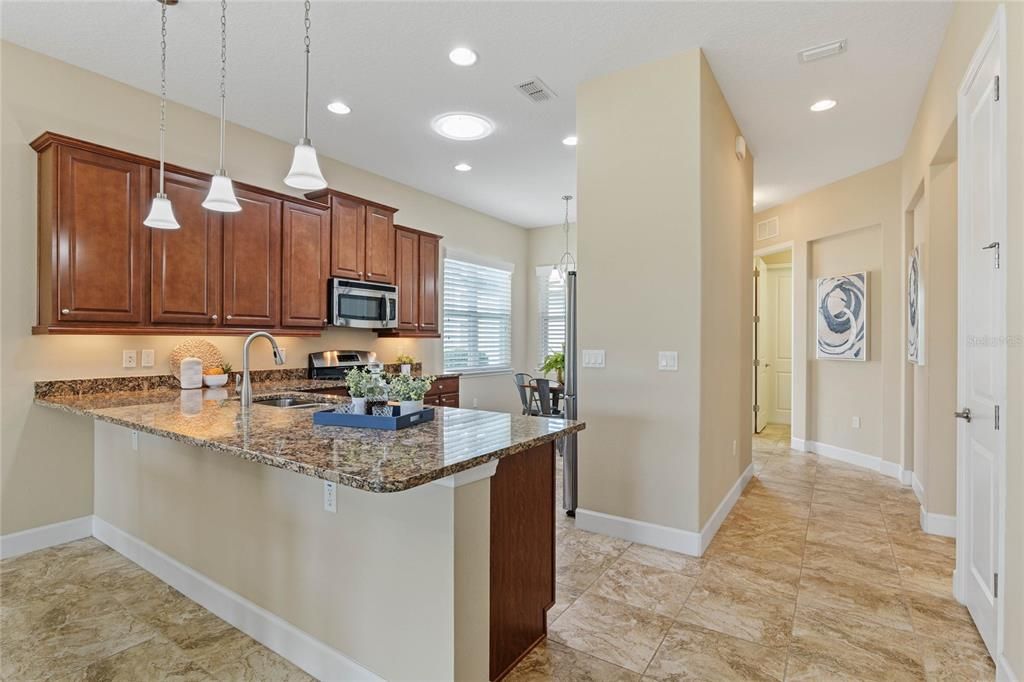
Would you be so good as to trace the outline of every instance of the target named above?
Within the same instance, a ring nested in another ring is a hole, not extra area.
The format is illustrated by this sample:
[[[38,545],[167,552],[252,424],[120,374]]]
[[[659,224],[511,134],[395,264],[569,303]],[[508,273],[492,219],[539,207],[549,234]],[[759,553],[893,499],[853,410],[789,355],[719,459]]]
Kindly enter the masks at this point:
[[[630,542],[650,545],[660,549],[681,552],[690,556],[700,556],[703,554],[711,541],[715,538],[722,522],[725,521],[733,505],[742,494],[746,483],[754,475],[754,465],[751,464],[746,470],[739,475],[736,482],[732,484],[718,509],[711,515],[700,532],[673,528],[657,523],[638,521],[625,516],[615,516],[603,512],[591,511],[589,509],[577,509],[575,526],[582,530],[599,532],[604,536],[622,538]]]

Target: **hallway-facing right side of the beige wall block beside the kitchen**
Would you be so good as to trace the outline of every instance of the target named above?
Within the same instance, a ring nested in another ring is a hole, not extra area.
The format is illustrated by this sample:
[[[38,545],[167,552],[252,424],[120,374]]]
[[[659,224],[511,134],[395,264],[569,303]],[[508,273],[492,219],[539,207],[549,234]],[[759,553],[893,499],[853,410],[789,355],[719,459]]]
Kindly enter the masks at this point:
[[[754,157],[700,55],[700,509],[703,527],[751,464]]]

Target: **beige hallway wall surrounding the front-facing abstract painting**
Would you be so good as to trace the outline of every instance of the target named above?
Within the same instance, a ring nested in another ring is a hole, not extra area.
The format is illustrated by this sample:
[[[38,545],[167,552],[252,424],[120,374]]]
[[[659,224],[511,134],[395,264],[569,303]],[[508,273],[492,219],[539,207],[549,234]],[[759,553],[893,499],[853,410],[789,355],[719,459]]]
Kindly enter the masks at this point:
[[[794,336],[794,438],[890,462],[900,461],[903,369],[899,168],[890,162],[754,216],[755,222],[779,219],[778,237],[757,241],[755,235],[756,250],[793,243],[794,300],[803,302],[793,311],[794,328],[801,330]],[[848,235],[847,249],[833,254]],[[815,281],[856,270],[871,270],[867,361],[816,359]],[[850,381],[864,393],[853,408],[847,397],[854,391],[844,383]],[[852,427],[853,416],[861,418],[859,429]]]

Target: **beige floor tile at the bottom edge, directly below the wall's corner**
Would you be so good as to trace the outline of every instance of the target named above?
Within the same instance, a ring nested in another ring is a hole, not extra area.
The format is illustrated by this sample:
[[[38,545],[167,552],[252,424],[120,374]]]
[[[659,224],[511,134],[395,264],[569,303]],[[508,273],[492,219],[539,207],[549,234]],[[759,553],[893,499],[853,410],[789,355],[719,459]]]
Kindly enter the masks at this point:
[[[713,630],[676,624],[647,667],[644,679],[781,680],[785,657],[785,648],[759,646]]]

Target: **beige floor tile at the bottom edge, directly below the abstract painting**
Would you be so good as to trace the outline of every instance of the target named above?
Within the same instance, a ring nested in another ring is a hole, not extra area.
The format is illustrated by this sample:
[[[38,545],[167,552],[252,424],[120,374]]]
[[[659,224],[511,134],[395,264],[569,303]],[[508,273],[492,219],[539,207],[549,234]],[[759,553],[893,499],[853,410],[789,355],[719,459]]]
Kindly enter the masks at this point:
[[[913,633],[844,617],[827,609],[797,609],[786,680],[924,679]]]

